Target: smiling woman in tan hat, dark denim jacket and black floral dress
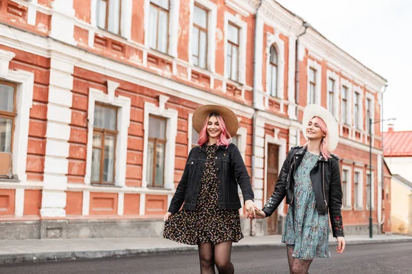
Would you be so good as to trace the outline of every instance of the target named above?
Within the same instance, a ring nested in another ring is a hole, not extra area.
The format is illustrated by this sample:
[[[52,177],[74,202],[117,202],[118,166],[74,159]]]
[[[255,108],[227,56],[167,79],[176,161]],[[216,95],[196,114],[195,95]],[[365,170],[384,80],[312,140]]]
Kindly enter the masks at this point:
[[[198,245],[201,273],[215,273],[215,265],[219,273],[234,273],[231,245],[243,238],[238,185],[247,217],[255,217],[250,177],[238,147],[231,144],[238,119],[229,108],[203,105],[192,120],[198,147],[187,157],[164,217],[163,237]]]

